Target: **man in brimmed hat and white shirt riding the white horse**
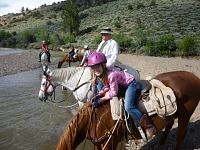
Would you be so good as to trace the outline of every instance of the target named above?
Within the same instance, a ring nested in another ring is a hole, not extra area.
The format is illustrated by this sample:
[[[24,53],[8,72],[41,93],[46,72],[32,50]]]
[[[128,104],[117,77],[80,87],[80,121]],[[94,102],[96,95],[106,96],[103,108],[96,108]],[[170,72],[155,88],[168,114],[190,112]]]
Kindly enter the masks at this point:
[[[101,31],[102,41],[98,45],[97,51],[105,54],[107,58],[106,66],[114,66],[118,58],[118,44],[112,39],[112,30],[109,27],[105,27]]]

